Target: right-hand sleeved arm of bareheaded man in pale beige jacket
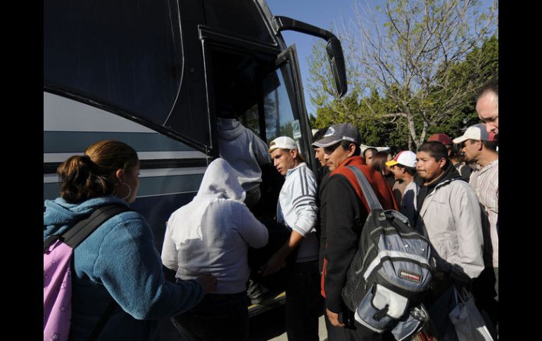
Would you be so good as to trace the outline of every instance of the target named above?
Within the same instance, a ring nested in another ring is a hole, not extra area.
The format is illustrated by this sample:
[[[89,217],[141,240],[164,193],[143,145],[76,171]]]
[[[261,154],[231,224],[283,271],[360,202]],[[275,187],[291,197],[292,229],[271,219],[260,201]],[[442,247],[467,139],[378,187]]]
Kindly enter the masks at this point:
[[[450,205],[459,246],[458,254],[449,259],[452,276],[460,281],[469,281],[469,278],[476,278],[484,270],[480,206],[476,194],[469,186],[454,186],[450,193]]]

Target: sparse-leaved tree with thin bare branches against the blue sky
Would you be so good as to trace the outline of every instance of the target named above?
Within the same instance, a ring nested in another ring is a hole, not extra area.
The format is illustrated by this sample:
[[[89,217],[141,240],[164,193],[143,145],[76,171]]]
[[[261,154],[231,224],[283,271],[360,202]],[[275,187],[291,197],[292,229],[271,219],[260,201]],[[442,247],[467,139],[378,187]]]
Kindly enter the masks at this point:
[[[484,81],[470,74],[458,82],[458,65],[495,30],[496,3],[481,12],[475,0],[388,0],[377,13],[365,10],[355,6],[359,37],[344,40],[358,51],[360,77],[396,110],[378,114],[363,104],[382,120],[406,124],[409,140],[420,146],[429,127],[450,120]],[[475,56],[470,70],[488,63],[484,53]]]

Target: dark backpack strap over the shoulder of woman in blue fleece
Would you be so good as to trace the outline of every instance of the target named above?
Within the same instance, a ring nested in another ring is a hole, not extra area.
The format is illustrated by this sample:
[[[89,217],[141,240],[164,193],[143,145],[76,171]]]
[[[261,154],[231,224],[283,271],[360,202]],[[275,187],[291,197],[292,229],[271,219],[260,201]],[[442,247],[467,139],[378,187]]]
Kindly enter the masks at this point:
[[[131,211],[131,209],[125,205],[113,204],[102,206],[92,212],[90,217],[83,219],[66,231],[60,239],[63,240],[66,245],[75,248],[106,220],[127,211]]]

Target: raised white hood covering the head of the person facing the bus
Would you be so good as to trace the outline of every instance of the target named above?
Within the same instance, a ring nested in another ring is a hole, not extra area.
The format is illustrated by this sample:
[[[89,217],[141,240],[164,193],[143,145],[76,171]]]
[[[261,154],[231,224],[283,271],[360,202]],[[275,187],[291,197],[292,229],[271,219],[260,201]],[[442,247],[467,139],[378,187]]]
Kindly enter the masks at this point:
[[[245,191],[232,166],[219,157],[207,167],[196,197],[218,197],[243,202]]]

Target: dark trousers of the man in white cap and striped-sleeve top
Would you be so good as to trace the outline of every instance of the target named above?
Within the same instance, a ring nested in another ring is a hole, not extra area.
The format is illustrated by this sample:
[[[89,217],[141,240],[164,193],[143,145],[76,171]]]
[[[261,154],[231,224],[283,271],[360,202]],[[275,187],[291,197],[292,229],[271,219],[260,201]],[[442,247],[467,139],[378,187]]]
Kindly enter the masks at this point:
[[[322,314],[318,260],[286,266],[286,334],[288,341],[318,341]]]

